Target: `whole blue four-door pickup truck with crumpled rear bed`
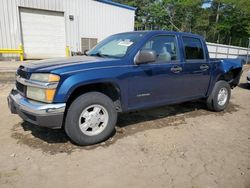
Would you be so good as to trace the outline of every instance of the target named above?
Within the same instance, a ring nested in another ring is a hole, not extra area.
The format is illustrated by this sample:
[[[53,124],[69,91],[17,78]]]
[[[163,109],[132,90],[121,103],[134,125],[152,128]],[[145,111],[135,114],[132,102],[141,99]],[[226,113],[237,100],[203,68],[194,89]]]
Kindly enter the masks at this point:
[[[242,63],[210,59],[198,35],[139,31],[112,35],[84,56],[22,65],[16,74],[12,113],[90,145],[112,135],[118,113],[195,99],[224,110]]]

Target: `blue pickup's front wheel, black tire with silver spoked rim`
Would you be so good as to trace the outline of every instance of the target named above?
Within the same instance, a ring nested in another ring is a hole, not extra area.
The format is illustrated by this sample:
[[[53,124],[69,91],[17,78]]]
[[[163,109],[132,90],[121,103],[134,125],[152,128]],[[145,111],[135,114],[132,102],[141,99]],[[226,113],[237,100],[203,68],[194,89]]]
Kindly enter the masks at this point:
[[[97,144],[112,135],[116,121],[117,111],[113,101],[102,93],[89,92],[70,105],[65,132],[78,145]]]

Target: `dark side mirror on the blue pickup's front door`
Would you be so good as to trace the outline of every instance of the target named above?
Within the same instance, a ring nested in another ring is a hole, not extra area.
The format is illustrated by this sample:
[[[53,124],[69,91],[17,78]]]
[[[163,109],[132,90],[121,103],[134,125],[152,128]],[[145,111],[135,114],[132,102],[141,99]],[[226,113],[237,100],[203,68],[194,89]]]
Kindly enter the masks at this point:
[[[138,65],[154,61],[156,61],[156,53],[153,50],[141,50],[135,57],[135,63]]]

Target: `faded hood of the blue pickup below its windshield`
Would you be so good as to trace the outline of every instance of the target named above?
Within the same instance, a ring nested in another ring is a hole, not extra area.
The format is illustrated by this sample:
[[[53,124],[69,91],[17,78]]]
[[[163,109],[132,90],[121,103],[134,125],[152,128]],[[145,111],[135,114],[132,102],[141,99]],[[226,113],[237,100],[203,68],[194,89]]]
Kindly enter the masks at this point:
[[[33,61],[24,64],[27,72],[60,72],[65,69],[87,69],[93,67],[103,67],[119,62],[121,59],[102,58],[94,56],[74,56],[68,58],[54,58],[40,61]],[[66,71],[66,70],[65,70]]]

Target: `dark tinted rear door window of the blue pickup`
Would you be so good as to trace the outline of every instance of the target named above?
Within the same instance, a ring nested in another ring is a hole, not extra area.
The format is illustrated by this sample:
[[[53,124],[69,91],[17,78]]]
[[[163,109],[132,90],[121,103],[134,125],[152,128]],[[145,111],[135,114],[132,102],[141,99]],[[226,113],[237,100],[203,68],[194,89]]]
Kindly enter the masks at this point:
[[[200,39],[183,37],[186,60],[204,59],[204,51]]]

